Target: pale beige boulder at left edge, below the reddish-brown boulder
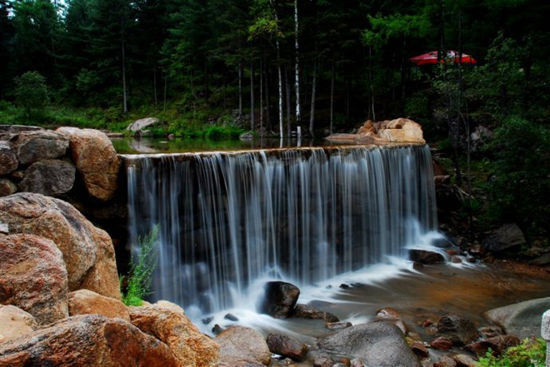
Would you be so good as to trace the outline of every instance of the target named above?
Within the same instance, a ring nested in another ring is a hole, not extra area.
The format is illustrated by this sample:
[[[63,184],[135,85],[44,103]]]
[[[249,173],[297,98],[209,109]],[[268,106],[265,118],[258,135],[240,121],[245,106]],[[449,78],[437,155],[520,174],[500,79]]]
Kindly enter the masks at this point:
[[[38,328],[35,318],[22,309],[0,305],[0,344],[30,334]]]

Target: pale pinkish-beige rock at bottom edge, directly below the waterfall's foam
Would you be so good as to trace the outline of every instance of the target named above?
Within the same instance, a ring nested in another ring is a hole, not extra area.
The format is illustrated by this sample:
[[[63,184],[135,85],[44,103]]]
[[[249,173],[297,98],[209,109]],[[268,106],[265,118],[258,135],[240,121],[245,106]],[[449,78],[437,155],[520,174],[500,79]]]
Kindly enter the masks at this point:
[[[216,342],[220,345],[220,363],[236,365],[243,361],[268,365],[271,352],[257,331],[243,326],[231,326],[222,331]]]

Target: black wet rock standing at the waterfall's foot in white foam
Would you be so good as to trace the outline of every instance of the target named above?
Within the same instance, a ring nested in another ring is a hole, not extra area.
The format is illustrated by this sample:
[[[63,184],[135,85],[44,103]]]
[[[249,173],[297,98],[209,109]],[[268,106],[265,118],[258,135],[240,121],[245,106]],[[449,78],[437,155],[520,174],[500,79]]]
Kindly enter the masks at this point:
[[[266,283],[264,289],[260,311],[277,319],[289,317],[298,302],[300,289],[294,284],[278,281]]]

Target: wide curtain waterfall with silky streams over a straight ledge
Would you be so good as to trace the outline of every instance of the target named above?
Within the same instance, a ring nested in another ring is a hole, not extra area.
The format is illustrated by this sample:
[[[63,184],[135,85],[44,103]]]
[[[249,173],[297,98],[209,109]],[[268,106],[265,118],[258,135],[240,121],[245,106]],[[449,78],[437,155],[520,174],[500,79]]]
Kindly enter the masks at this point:
[[[314,284],[437,227],[427,146],[125,156],[130,236],[159,227],[153,298],[214,312],[261,277]]]

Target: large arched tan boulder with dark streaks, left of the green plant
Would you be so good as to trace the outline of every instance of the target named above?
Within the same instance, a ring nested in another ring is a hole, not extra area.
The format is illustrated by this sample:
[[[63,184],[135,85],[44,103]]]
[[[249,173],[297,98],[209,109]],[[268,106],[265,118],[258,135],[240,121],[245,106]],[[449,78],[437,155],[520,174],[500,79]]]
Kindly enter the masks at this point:
[[[34,193],[0,198],[0,222],[10,233],[28,233],[55,242],[63,253],[69,290],[89,289],[120,299],[113,243],[72,205]]]

